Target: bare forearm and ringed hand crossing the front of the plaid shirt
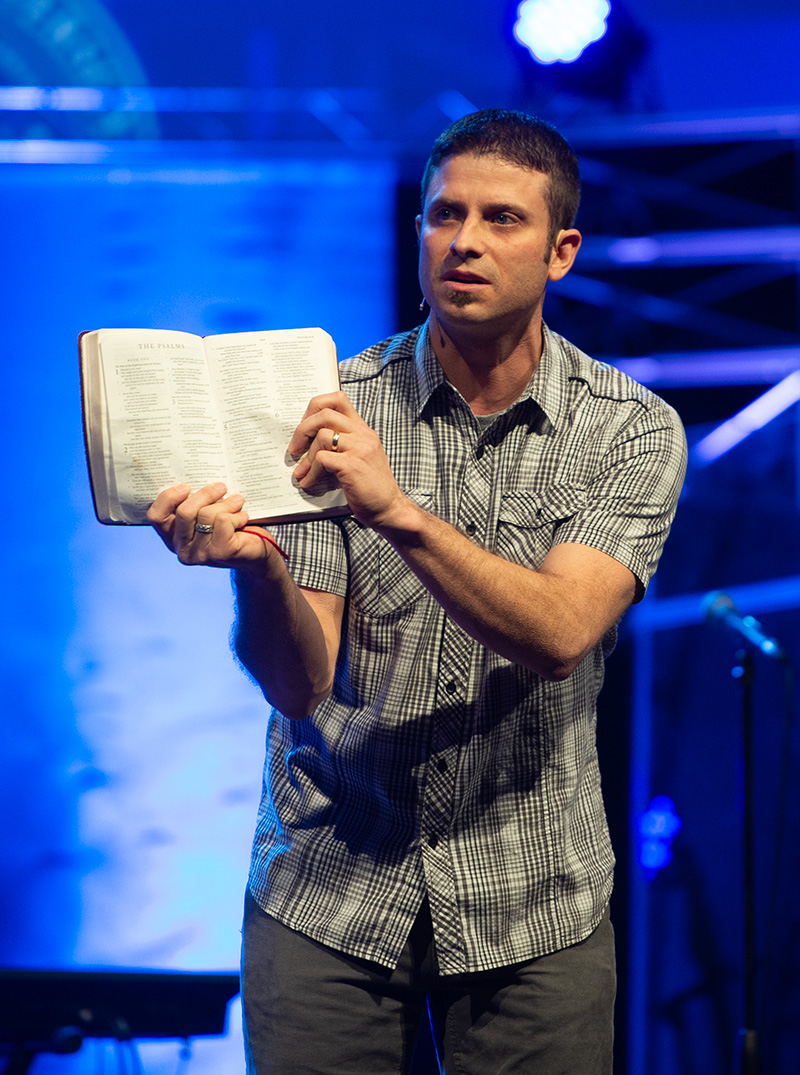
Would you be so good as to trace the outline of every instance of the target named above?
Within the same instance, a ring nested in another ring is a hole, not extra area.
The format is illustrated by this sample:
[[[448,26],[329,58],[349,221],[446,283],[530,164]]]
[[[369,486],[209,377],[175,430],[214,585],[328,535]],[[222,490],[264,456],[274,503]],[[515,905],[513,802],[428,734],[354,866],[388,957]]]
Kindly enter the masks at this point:
[[[599,549],[557,545],[534,571],[412,503],[380,438],[343,392],[311,401],[289,452],[303,454],[295,469],[301,488],[332,474],[356,519],[395,546],[457,624],[545,678],[568,676],[634,597],[633,574]]]

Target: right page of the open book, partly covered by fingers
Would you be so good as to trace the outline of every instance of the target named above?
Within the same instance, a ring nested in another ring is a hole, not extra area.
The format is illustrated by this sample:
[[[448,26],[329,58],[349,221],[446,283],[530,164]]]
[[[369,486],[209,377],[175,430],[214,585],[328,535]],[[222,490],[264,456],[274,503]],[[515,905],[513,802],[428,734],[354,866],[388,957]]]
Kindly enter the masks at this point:
[[[334,486],[313,493],[292,478],[287,454],[312,396],[335,391],[333,341],[322,329],[238,332],[205,340],[230,462],[230,489],[253,518],[323,512],[345,503]]]

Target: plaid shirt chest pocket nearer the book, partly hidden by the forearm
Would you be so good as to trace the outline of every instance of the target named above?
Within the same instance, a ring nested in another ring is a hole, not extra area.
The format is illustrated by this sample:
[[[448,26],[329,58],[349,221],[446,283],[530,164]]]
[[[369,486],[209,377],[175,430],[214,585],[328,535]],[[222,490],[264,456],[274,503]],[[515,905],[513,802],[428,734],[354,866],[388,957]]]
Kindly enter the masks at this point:
[[[419,490],[405,494],[426,511],[433,496]],[[368,617],[405,614],[428,591],[386,539],[354,519],[346,526],[349,555],[348,598],[355,610]]]

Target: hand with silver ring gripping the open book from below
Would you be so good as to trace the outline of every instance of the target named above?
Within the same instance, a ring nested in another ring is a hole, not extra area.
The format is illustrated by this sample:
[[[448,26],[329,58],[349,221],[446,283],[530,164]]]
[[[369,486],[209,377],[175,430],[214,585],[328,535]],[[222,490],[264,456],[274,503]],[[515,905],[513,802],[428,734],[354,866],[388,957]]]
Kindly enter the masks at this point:
[[[257,532],[242,530],[249,517],[243,504],[244,497],[228,494],[222,482],[197,492],[173,485],[156,497],[147,521],[182,563],[263,573],[269,560],[281,557]]]

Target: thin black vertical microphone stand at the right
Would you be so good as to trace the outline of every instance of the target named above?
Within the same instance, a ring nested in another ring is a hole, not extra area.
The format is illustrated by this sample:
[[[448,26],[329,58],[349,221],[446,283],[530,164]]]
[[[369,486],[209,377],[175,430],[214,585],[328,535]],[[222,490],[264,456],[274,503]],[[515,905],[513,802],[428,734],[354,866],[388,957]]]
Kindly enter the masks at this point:
[[[742,688],[742,892],[744,908],[744,1027],[737,1033],[733,1075],[758,1075],[756,1036],[755,843],[753,823],[753,653],[740,649],[731,675]]]

